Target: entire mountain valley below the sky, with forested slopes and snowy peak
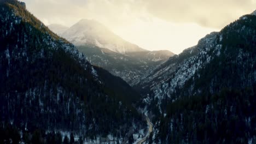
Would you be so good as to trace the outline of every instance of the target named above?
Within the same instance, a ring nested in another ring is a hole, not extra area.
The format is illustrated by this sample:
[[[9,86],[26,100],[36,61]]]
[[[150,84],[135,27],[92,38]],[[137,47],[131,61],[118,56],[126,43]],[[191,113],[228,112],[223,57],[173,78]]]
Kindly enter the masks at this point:
[[[256,142],[255,12],[175,55],[1,0],[0,61],[0,143]]]

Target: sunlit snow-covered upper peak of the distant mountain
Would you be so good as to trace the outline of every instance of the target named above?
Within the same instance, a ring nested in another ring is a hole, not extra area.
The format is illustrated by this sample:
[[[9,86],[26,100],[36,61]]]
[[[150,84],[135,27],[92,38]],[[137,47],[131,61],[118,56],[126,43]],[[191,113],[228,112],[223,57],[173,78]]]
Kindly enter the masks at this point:
[[[146,51],[137,45],[123,40],[95,20],[80,20],[67,29],[66,32],[62,33],[61,36],[74,45],[80,46],[92,44],[123,54],[128,52]]]

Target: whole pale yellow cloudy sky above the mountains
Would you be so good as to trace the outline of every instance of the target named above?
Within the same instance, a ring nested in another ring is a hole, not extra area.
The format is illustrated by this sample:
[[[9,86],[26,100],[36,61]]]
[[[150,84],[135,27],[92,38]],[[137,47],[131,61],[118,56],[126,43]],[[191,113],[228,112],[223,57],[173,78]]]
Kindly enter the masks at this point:
[[[256,9],[256,0],[21,0],[45,25],[95,19],[148,50],[180,53]]]

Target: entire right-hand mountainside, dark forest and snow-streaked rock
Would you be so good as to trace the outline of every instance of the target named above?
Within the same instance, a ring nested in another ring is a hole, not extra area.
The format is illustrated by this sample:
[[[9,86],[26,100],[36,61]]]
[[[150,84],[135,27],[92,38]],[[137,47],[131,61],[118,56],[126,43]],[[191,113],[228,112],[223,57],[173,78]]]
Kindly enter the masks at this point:
[[[138,82],[146,107],[161,116],[156,143],[256,141],[255,32],[256,16],[242,16]]]

